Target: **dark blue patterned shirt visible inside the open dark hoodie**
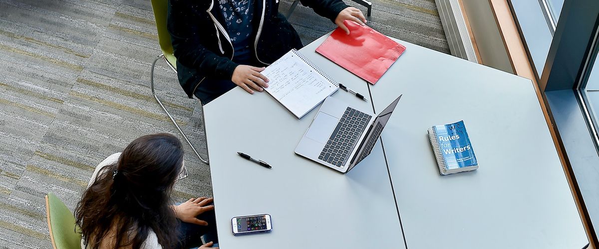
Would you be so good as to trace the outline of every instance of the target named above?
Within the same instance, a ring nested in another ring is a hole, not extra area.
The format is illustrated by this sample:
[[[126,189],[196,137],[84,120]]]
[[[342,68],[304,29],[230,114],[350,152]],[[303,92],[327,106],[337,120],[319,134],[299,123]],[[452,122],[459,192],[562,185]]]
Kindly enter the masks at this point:
[[[249,61],[252,53],[249,37],[253,31],[253,0],[219,0],[219,6],[235,50],[233,60]]]

